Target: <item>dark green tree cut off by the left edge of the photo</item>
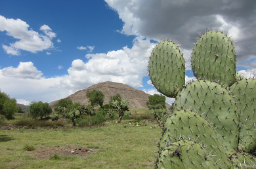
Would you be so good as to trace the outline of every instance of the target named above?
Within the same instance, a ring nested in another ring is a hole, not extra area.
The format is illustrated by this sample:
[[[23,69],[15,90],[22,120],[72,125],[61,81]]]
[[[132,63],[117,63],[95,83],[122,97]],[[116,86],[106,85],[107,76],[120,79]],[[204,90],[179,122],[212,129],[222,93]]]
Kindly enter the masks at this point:
[[[11,99],[7,94],[0,91],[0,114],[7,119],[13,119],[13,115],[17,110],[15,98]]]

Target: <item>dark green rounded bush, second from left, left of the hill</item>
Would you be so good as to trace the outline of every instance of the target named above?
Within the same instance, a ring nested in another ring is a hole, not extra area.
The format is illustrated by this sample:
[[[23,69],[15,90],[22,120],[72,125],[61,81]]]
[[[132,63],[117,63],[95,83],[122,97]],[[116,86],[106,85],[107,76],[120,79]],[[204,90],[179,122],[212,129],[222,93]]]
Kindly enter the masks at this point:
[[[49,103],[43,103],[41,101],[39,102],[32,102],[29,106],[30,115],[33,119],[37,119],[37,117],[40,117],[43,119],[44,116],[50,115],[52,113],[52,108],[49,105]]]

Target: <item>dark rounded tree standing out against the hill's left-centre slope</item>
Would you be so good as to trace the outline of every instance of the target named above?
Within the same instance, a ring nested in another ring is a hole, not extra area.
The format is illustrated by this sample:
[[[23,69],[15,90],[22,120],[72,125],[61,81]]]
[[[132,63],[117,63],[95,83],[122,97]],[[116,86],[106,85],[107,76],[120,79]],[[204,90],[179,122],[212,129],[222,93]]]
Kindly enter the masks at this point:
[[[100,105],[102,107],[104,102],[104,94],[100,90],[88,90],[86,93],[87,98],[89,99],[89,102],[91,102],[91,105],[95,107],[96,105]]]

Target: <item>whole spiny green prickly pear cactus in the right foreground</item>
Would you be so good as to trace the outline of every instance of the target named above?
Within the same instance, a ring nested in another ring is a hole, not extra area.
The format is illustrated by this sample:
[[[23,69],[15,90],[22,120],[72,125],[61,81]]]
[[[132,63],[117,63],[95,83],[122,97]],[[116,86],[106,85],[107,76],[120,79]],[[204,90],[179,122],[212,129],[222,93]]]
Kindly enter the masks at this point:
[[[230,38],[208,31],[198,39],[192,52],[198,81],[184,86],[183,67],[173,42],[153,49],[150,79],[162,94],[176,97],[163,125],[156,168],[256,168],[256,80],[236,72]]]

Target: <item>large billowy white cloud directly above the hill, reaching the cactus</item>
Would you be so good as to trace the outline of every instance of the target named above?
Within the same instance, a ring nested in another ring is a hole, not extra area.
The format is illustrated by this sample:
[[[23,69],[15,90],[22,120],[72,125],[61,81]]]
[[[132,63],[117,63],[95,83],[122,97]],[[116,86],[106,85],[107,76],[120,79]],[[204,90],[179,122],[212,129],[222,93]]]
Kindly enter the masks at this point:
[[[68,79],[63,86],[85,88],[104,81],[125,83],[133,87],[142,86],[142,77],[147,74],[148,55],[154,47],[149,39],[137,37],[133,47],[123,47],[108,53],[87,54],[89,60],[74,60],[68,69]]]

